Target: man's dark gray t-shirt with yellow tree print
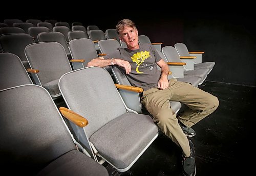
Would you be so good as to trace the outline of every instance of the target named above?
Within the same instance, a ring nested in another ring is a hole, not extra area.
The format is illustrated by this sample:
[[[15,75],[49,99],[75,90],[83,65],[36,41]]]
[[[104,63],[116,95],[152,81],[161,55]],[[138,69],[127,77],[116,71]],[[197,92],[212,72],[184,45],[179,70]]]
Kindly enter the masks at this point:
[[[157,68],[156,62],[160,61],[161,57],[154,46],[145,43],[135,50],[118,48],[114,53],[107,54],[103,58],[117,58],[130,62],[132,66],[130,74],[126,74],[123,67],[120,68],[132,86],[141,87],[143,90],[158,86],[161,71]]]

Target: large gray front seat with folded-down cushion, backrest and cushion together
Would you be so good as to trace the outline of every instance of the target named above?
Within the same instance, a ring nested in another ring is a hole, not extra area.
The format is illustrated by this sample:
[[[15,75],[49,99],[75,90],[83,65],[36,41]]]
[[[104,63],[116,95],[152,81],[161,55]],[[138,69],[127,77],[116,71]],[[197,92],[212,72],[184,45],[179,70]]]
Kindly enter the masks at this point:
[[[127,112],[108,73],[87,67],[64,74],[59,89],[69,109],[87,117],[84,127],[94,154],[119,171],[128,170],[158,136],[151,116]],[[83,131],[75,130],[81,139]]]

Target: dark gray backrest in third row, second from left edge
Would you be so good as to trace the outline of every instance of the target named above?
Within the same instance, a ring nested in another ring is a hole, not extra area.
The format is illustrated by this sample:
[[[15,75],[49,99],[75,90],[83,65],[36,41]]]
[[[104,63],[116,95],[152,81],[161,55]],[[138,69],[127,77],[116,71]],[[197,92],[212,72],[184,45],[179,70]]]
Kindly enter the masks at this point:
[[[60,32],[41,32],[37,35],[37,39],[39,42],[57,42],[64,47],[67,55],[70,54],[65,36]]]

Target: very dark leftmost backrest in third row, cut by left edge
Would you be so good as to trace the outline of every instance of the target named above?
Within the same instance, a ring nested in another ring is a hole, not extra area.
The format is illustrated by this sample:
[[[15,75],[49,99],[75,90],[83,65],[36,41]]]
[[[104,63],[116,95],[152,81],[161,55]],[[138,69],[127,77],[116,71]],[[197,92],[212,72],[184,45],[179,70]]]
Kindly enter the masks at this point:
[[[0,44],[4,53],[13,53],[22,60],[24,67],[30,68],[25,56],[24,49],[27,45],[34,43],[29,34],[3,34],[0,36]]]

